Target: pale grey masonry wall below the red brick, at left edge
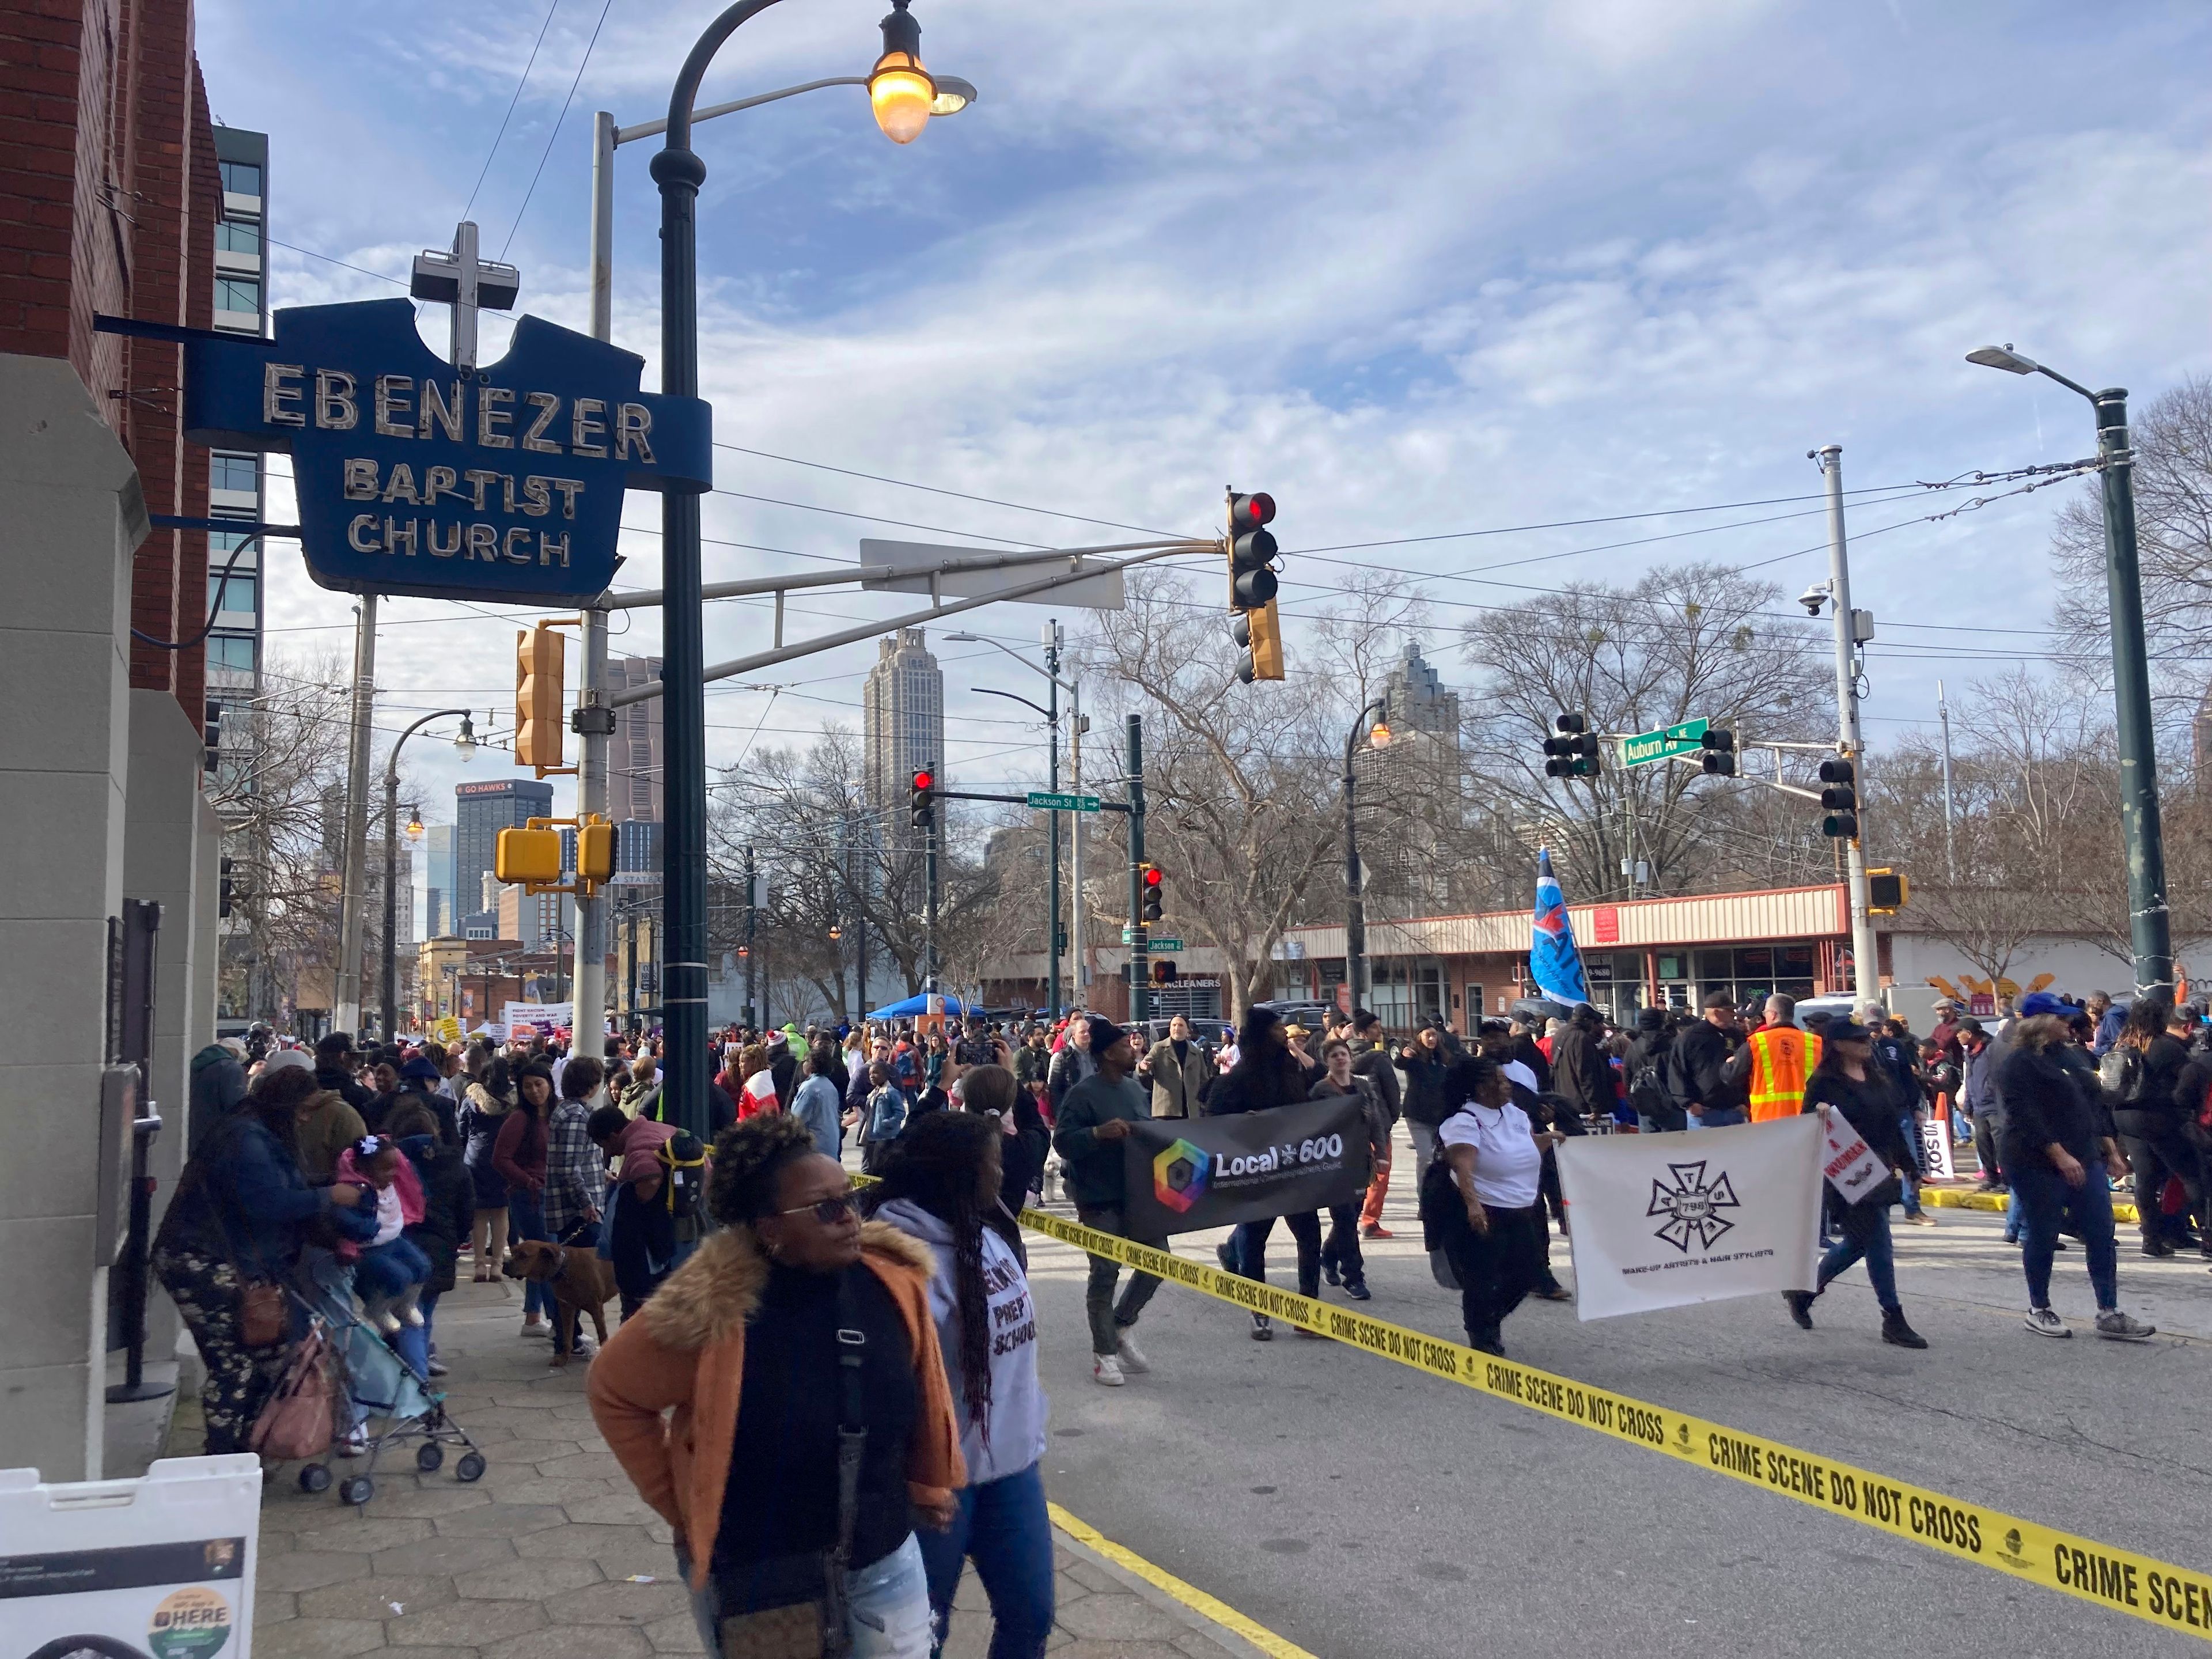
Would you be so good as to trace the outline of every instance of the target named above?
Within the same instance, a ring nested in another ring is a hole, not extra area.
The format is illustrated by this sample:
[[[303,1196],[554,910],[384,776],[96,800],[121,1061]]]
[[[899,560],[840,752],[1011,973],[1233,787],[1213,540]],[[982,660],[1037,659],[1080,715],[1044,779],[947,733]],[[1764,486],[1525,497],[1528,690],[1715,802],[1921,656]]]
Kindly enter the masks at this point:
[[[137,471],[60,356],[0,354],[0,1469],[102,1471],[106,1270],[93,1214],[106,929],[124,900]],[[181,723],[181,710],[168,710]],[[190,728],[186,728],[190,734]],[[197,739],[190,765],[197,768]],[[35,1148],[35,1155],[31,1155]]]

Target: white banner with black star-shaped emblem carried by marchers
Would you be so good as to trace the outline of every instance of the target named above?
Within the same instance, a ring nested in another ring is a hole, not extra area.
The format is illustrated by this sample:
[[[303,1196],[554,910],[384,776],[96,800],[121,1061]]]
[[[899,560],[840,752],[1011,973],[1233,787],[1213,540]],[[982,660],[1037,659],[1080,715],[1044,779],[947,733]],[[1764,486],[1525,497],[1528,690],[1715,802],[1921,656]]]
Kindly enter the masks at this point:
[[[1573,1137],[1559,1146],[1559,1188],[1582,1318],[1814,1285],[1818,1117]]]

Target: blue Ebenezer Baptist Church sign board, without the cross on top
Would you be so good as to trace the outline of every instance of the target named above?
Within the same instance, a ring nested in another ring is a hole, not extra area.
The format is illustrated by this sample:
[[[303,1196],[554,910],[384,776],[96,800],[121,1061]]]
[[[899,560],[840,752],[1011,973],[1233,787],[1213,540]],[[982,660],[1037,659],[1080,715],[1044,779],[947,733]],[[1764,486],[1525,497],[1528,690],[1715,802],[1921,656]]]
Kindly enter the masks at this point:
[[[414,305],[299,305],[276,338],[186,345],[192,442],[292,456],[307,573],[341,593],[591,599],[626,489],[706,491],[712,411],[639,392],[644,358],[524,316],[462,369]]]

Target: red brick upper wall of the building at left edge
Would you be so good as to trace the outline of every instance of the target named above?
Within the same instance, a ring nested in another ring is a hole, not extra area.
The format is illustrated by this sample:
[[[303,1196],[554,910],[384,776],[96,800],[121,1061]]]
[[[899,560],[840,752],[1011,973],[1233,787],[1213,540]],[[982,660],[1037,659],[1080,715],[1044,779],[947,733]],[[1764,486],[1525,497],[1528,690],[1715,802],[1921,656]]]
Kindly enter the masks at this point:
[[[184,349],[95,316],[208,327],[221,184],[188,0],[0,0],[0,352],[69,358],[139,469],[146,511],[204,518],[208,451],[184,442]],[[201,531],[137,551],[131,626],[208,615]],[[206,650],[133,639],[131,684],[206,717]]]

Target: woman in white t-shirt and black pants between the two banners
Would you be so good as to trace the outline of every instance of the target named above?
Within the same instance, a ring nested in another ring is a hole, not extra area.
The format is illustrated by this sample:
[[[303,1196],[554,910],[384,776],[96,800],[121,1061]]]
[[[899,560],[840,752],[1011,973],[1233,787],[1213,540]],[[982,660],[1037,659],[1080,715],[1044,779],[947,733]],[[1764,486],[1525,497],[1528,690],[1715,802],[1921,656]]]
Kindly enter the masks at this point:
[[[1453,1064],[1444,1097],[1458,1102],[1436,1139],[1464,1214],[1442,1228],[1442,1248],[1460,1279],[1467,1340],[1484,1354],[1504,1354],[1500,1327],[1544,1272],[1537,1232],[1537,1183],[1544,1148],[1557,1135],[1537,1135],[1528,1113],[1513,1104],[1513,1086],[1498,1062],[1471,1055]]]

